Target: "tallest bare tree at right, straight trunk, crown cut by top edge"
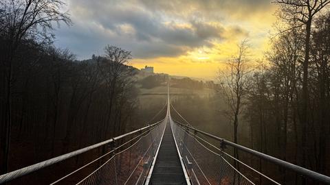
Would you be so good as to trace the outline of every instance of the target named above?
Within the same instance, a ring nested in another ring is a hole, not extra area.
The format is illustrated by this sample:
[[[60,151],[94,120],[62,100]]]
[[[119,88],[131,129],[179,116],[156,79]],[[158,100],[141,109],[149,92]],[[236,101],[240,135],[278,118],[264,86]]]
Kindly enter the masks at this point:
[[[276,3],[280,5],[280,12],[278,16],[285,22],[292,25],[293,21],[299,21],[298,27],[303,27],[305,30],[305,58],[303,61],[303,92],[300,122],[302,124],[302,147],[303,147],[303,167],[306,167],[306,131],[308,125],[308,68],[309,68],[309,51],[311,40],[311,25],[313,18],[325,8],[329,0],[277,0]]]

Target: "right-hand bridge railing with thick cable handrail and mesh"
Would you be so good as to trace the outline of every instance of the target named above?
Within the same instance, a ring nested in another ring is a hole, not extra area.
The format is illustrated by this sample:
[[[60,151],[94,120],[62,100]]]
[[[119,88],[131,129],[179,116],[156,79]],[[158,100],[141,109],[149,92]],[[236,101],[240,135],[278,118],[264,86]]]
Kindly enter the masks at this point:
[[[178,112],[177,112],[178,113]],[[211,181],[217,182],[220,184],[222,182],[230,182],[229,184],[253,184],[248,178],[246,178],[243,174],[236,171],[234,167],[230,163],[228,163],[223,156],[227,156],[236,160],[236,158],[230,156],[230,154],[225,153],[223,149],[225,147],[234,147],[246,153],[252,154],[252,156],[256,156],[257,158],[261,158],[263,160],[267,160],[278,166],[284,167],[285,169],[289,169],[300,175],[305,177],[309,177],[317,182],[322,182],[325,184],[330,184],[330,177],[326,175],[322,175],[320,173],[316,173],[315,171],[311,171],[309,169],[305,169],[303,167],[299,167],[295,164],[285,162],[278,158],[274,158],[272,156],[268,156],[265,153],[261,153],[259,151],[255,151],[253,149],[249,149],[247,147],[243,147],[236,143],[232,143],[223,138],[219,138],[207,132],[203,132],[201,130],[192,127],[190,124],[179,123],[178,121],[172,121],[173,132],[175,133],[175,138],[177,141],[179,140],[179,145],[181,147],[181,155],[184,157],[186,164],[188,164],[188,168],[190,168],[190,178],[199,181],[199,183],[193,184],[214,184]],[[212,138],[214,140],[219,141],[219,147],[212,145],[208,140],[204,139],[202,136],[206,138]],[[248,169],[259,173],[267,180],[274,184],[279,184],[278,182],[272,180],[270,177],[267,177],[263,173],[256,171],[252,167],[249,167],[247,164],[238,161],[240,164],[243,164]],[[195,164],[194,164],[195,163]],[[190,167],[189,167],[190,166]],[[192,166],[192,167],[191,167]],[[194,166],[197,166],[194,167]],[[228,168],[230,167],[230,168]],[[214,172],[212,170],[216,169],[218,172]],[[229,172],[227,171],[229,169]],[[234,171],[233,171],[234,169]],[[221,171],[221,172],[219,172]],[[192,173],[192,174],[191,174]],[[201,173],[201,174],[199,174]]]

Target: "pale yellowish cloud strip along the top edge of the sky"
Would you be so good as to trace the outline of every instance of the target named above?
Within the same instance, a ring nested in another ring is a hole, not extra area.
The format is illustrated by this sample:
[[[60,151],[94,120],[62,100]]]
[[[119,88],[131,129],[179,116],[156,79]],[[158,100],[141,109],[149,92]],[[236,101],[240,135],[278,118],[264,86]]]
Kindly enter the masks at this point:
[[[192,16],[199,14],[207,18],[223,18],[236,15],[246,18],[254,12],[265,11],[272,7],[272,0],[138,0],[144,7],[162,11],[173,16]]]

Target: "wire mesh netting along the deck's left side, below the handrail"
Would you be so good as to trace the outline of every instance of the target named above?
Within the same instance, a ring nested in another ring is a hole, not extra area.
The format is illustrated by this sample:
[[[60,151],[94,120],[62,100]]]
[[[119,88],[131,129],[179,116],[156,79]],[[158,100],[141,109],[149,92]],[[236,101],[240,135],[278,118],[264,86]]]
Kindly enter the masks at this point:
[[[135,138],[104,154],[104,156],[112,155],[112,157],[101,163],[78,184],[143,184],[160,144],[165,125],[166,121],[162,121],[150,130],[140,133]],[[91,163],[100,162],[101,158],[102,156]],[[65,177],[61,180],[63,179]]]

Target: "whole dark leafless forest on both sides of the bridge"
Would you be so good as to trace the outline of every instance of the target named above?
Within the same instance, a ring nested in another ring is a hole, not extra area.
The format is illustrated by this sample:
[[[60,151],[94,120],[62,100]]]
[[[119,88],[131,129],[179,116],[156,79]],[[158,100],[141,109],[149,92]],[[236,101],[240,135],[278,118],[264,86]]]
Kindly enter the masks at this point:
[[[203,82],[157,74],[139,79],[139,70],[129,65],[131,51],[110,43],[101,55],[78,60],[54,45],[56,26],[73,24],[63,1],[1,1],[0,173],[162,119],[165,112],[157,112],[166,98],[151,97],[145,106],[140,90],[165,86],[170,79],[171,88],[214,92],[173,98],[194,127],[330,176],[330,1],[274,3],[278,24],[264,58],[250,56],[247,38],[235,56],[219,64],[217,79]],[[175,114],[173,119],[184,122]],[[102,152],[77,158],[66,171]],[[282,184],[316,184],[236,149],[232,155]]]

